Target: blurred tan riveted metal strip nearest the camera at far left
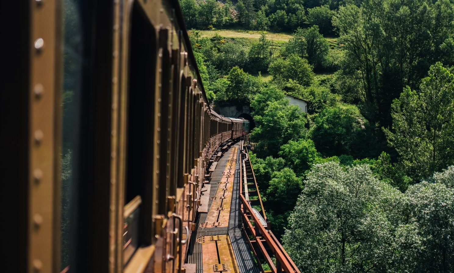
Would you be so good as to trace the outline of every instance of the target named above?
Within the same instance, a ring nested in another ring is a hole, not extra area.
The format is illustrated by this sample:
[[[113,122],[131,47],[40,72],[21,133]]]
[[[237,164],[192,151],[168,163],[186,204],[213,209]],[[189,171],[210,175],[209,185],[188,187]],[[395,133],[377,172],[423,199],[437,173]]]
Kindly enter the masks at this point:
[[[61,6],[30,1],[29,272],[59,269]]]

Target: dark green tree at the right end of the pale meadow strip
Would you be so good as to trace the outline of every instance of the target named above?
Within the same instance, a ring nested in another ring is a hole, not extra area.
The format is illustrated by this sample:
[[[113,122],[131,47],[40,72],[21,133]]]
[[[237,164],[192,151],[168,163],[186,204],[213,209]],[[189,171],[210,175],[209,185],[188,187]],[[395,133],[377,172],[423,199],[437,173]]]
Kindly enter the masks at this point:
[[[307,29],[296,29],[286,46],[287,54],[298,54],[307,58],[315,68],[322,68],[328,54],[328,42],[314,25]]]

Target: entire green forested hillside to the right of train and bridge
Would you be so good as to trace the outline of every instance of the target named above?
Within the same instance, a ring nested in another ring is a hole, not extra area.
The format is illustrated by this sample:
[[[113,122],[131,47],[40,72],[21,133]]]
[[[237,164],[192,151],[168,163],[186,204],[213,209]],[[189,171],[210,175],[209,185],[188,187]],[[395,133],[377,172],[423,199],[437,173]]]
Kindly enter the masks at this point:
[[[301,272],[454,272],[453,0],[180,0]],[[307,113],[286,95],[308,102]]]

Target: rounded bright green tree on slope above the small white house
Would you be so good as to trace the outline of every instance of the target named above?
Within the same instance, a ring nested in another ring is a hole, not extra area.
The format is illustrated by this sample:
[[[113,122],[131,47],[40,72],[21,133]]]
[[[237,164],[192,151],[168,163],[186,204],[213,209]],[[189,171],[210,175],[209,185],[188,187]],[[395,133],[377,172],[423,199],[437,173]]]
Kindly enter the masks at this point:
[[[281,86],[289,79],[309,86],[314,78],[312,66],[296,54],[291,54],[286,59],[275,59],[270,63],[268,71],[273,75],[273,81]]]

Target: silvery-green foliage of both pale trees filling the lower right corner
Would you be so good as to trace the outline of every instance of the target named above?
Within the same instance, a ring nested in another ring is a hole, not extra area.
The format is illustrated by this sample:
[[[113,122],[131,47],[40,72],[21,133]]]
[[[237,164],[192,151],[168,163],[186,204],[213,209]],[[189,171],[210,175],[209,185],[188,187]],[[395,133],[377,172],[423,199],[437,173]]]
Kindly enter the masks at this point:
[[[451,272],[454,190],[434,182],[402,194],[377,180],[367,164],[315,165],[289,218],[284,247],[304,272]]]

